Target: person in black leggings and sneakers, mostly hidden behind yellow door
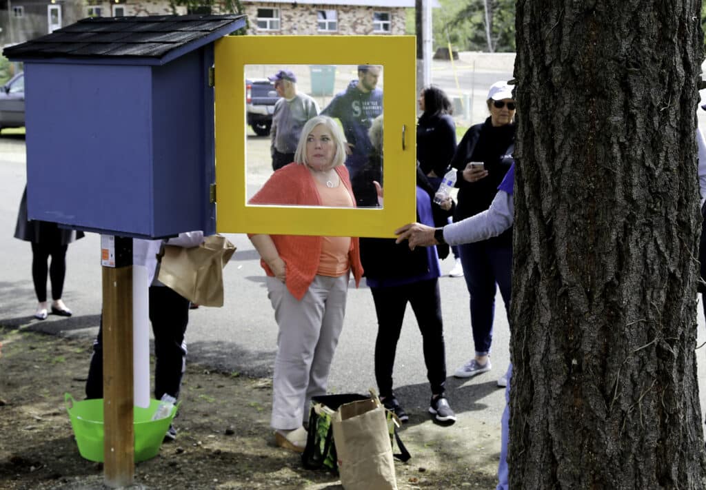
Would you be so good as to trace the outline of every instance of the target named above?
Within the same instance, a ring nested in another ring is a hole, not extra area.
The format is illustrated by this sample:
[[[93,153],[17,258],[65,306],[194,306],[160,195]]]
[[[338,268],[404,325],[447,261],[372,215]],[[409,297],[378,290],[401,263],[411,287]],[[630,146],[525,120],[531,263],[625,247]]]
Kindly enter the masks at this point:
[[[382,116],[373,121],[370,129],[373,154],[370,162],[353,183],[359,205],[378,205],[374,183],[381,182],[380,154],[382,144]],[[389,162],[388,162],[389,165]],[[381,189],[379,188],[381,194]],[[447,222],[447,210],[433,204],[434,189],[417,167],[417,220],[428,225],[442,226]],[[361,263],[375,303],[378,317],[378,335],[375,342],[375,377],[380,399],[388,410],[402,422],[409,416],[393,393],[393,368],[397,341],[407,303],[412,305],[421,332],[426,375],[431,386],[429,412],[438,422],[453,424],[456,415],[445,395],[446,354],[441,318],[441,296],[438,277],[441,273],[438,256],[448,255],[448,246],[437,252],[436,247],[409,250],[395,239],[361,238]]]

